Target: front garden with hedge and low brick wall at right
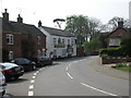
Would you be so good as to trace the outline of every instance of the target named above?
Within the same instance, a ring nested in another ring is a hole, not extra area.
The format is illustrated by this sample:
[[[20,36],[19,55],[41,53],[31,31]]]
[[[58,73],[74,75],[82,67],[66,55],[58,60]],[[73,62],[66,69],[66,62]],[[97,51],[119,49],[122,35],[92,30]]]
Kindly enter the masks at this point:
[[[99,52],[103,64],[117,63],[114,69],[122,71],[131,71],[131,65],[126,63],[131,62],[131,38],[123,39],[117,48],[105,48]],[[124,63],[123,63],[124,62]]]

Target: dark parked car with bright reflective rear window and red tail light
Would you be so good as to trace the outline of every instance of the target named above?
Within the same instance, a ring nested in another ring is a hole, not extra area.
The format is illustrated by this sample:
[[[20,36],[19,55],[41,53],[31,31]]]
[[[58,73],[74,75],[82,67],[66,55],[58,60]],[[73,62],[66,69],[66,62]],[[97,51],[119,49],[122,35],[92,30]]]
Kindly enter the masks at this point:
[[[16,65],[14,63],[0,63],[0,65],[2,66],[7,81],[10,78],[17,79],[24,74],[24,69],[21,65]]]

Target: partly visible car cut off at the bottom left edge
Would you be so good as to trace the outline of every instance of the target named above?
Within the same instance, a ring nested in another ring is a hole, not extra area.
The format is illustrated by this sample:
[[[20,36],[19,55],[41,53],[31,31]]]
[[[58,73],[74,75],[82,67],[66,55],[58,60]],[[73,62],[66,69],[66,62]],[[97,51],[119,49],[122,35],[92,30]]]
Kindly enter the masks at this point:
[[[3,75],[2,69],[0,68],[0,98],[5,94],[5,87],[7,87],[5,77]]]

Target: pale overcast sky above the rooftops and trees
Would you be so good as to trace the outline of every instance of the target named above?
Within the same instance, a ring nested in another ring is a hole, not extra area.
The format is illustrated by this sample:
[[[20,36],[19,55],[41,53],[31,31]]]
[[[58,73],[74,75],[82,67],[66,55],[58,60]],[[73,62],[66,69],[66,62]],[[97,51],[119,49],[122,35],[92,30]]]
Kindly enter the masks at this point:
[[[99,19],[104,24],[114,16],[129,19],[131,0],[0,0],[0,12],[8,9],[10,20],[21,14],[23,22],[34,24],[40,20],[44,26],[55,27],[55,19],[70,15],[87,15]],[[2,16],[2,14],[0,14]]]

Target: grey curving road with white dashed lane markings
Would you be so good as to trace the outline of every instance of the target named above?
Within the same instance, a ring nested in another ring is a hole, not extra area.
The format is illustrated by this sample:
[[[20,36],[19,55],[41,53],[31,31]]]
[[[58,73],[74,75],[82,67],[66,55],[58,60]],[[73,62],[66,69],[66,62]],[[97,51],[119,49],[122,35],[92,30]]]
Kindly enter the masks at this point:
[[[129,81],[96,71],[98,57],[55,61],[9,82],[12,96],[129,96]]]

